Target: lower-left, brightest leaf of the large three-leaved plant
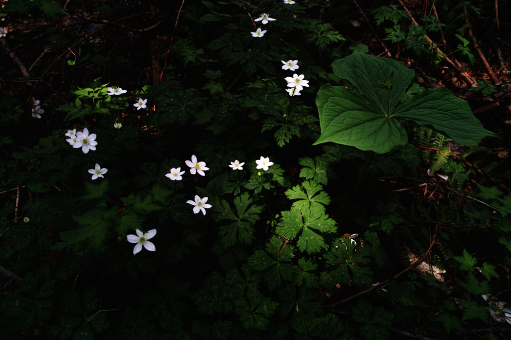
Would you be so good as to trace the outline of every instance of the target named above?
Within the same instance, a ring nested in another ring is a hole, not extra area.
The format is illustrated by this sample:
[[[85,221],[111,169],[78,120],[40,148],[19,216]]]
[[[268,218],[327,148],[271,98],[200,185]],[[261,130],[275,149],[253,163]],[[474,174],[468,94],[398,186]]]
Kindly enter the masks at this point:
[[[314,144],[332,141],[383,154],[407,141],[406,131],[397,119],[387,118],[381,108],[355,91],[323,85],[316,105],[321,136]]]

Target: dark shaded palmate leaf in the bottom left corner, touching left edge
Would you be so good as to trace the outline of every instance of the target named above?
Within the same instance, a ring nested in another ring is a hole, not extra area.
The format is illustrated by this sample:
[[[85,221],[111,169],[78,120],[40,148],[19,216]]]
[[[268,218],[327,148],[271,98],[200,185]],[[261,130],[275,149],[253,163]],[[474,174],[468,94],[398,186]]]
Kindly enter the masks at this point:
[[[26,274],[21,281],[19,292],[9,292],[4,295],[2,309],[7,315],[24,315],[23,324],[19,331],[29,329],[34,325],[34,318],[50,319],[50,300],[53,294],[54,280],[45,280],[38,284],[39,278],[33,272]]]

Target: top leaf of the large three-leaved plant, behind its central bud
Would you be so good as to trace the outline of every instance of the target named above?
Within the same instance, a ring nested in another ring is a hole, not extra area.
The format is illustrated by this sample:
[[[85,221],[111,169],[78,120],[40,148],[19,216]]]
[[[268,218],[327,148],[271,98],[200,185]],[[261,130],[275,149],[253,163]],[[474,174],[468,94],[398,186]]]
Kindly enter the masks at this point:
[[[401,61],[357,51],[346,58],[334,61],[332,69],[337,77],[349,81],[382,112],[387,112],[387,90],[379,89],[374,85],[384,83],[391,72],[394,72],[390,88],[390,111],[392,112],[415,75],[415,72]]]

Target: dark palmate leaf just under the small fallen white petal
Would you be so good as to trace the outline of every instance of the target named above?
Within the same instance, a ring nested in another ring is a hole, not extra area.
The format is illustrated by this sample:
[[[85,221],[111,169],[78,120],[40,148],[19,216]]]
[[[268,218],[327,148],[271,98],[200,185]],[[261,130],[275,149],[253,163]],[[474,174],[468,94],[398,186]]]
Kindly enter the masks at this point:
[[[339,248],[332,248],[324,255],[327,263],[335,265],[335,270],[330,272],[333,280],[340,283],[348,283],[353,278],[356,285],[368,284],[371,281],[371,271],[368,267],[360,266],[369,263],[367,252],[355,252],[355,244],[346,242]]]

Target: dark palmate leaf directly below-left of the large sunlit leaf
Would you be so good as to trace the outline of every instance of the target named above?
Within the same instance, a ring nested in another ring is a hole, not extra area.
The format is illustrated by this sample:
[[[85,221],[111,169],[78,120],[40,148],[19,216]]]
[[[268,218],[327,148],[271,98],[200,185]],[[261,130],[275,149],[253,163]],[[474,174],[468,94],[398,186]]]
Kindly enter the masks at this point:
[[[266,244],[266,252],[256,250],[248,259],[248,263],[255,270],[267,270],[265,280],[270,289],[280,287],[282,279],[290,281],[293,278],[293,266],[286,262],[291,261],[294,257],[294,247],[283,246],[284,242],[277,236],[273,236]]]

